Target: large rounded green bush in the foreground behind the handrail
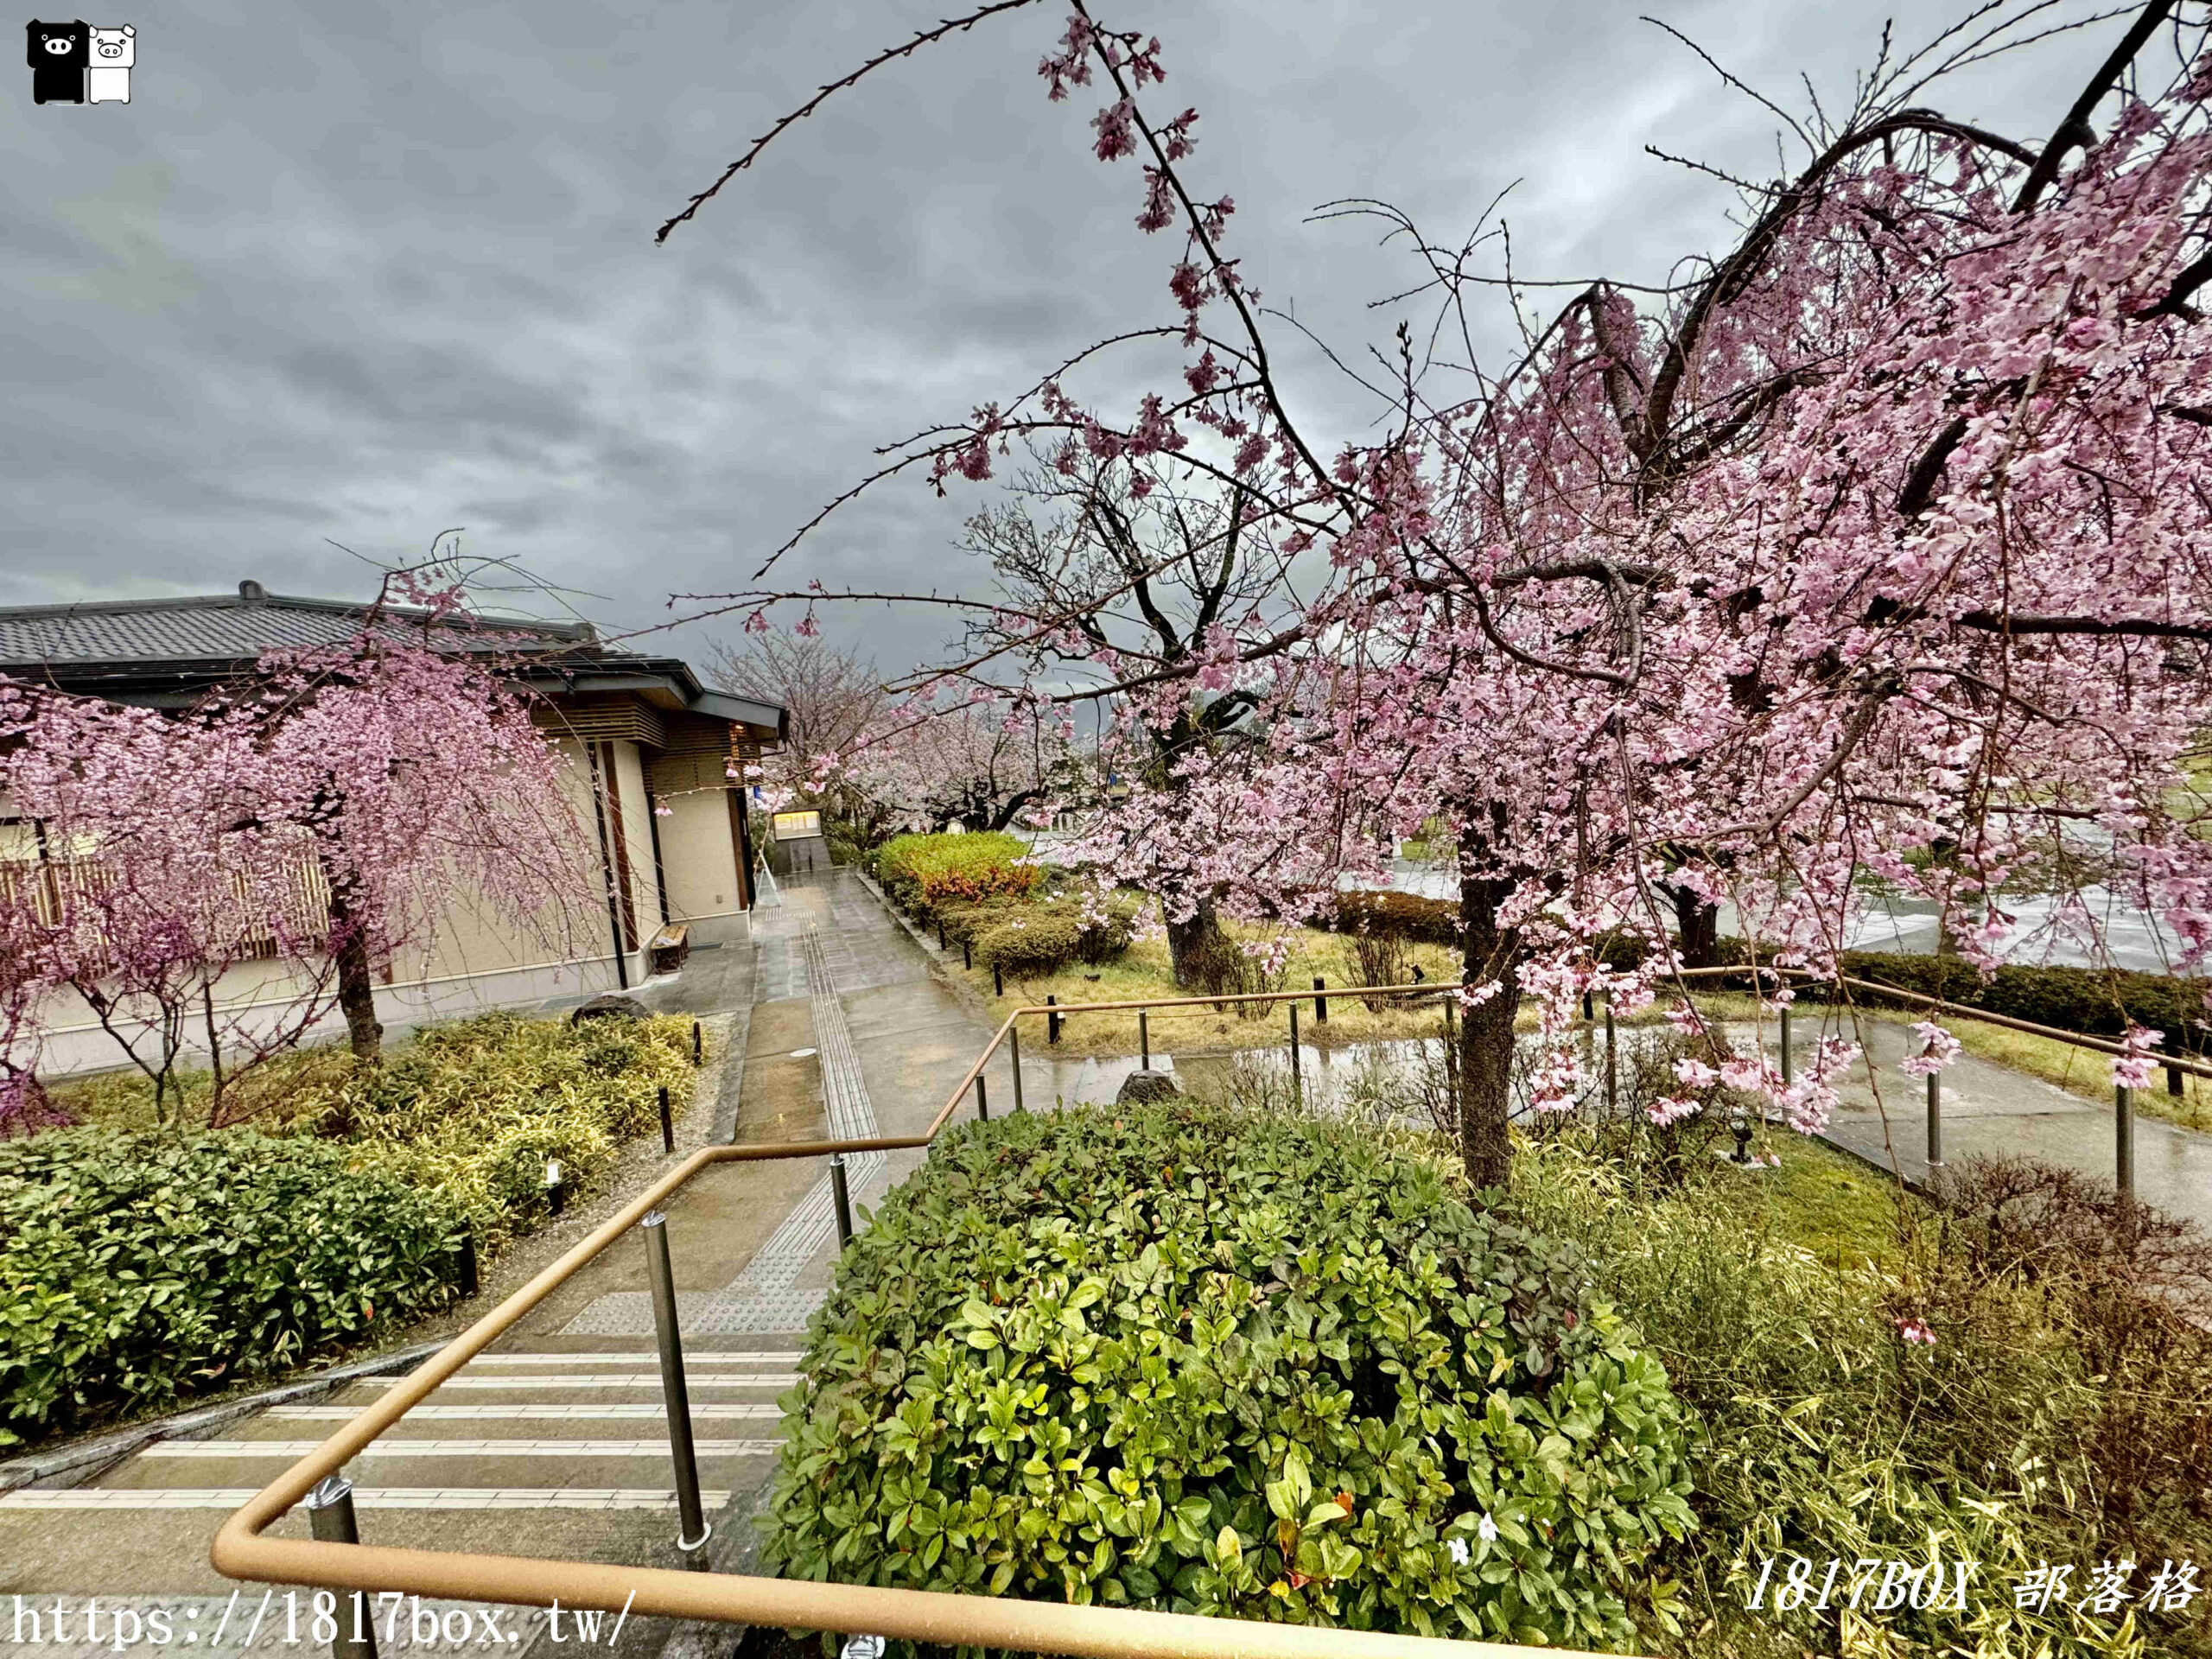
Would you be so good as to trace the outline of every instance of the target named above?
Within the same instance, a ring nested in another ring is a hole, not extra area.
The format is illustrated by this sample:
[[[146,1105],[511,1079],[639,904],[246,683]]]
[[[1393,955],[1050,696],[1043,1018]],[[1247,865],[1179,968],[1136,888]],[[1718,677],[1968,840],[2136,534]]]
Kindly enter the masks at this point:
[[[768,1559],[1630,1641],[1624,1593],[1694,1524],[1688,1413],[1573,1245],[1376,1139],[1188,1102],[938,1139],[814,1316]]]

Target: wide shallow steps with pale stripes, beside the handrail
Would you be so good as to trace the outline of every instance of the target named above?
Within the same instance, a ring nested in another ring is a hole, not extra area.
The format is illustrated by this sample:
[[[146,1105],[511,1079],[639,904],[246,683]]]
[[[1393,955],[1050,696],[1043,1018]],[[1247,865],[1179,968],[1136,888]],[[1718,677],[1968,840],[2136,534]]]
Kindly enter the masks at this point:
[[[509,1340],[469,1360],[347,1464],[361,1542],[681,1566],[653,1338]],[[714,1524],[708,1551],[721,1564],[745,1542],[745,1513],[774,1473],[776,1396],[796,1383],[801,1338],[688,1336],[684,1347],[701,1500]],[[396,1385],[361,1378],[316,1405],[263,1407],[219,1438],[159,1440],[80,1486],[0,1493],[0,1655],[113,1657],[115,1617],[144,1624],[155,1613],[195,1659],[288,1648],[288,1635],[296,1652],[327,1652],[327,1641],[310,1639],[314,1590],[288,1601],[283,1586],[237,1586],[208,1566],[208,1546],[232,1511]],[[307,1522],[294,1509],[270,1531],[305,1537]],[[53,1584],[77,1588],[58,1595]],[[482,1650],[487,1637],[513,1655],[562,1650],[546,1644],[544,1610],[422,1606],[438,1626],[425,1652]],[[378,1606],[380,1655],[418,1646],[411,1615],[414,1604]],[[465,1624],[471,1635],[449,1641]],[[639,1619],[619,1650],[659,1652],[670,1628]],[[562,1635],[575,1639],[566,1619]],[[608,1617],[593,1646],[613,1635]]]

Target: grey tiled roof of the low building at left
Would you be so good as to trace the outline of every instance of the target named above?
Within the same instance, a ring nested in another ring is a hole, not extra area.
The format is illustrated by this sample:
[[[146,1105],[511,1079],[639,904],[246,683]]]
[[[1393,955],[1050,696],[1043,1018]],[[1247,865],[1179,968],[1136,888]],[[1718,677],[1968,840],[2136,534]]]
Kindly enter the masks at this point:
[[[221,593],[195,599],[111,599],[0,608],[0,672],[62,664],[246,661],[263,650],[334,646],[352,639],[367,606],[285,595]],[[387,608],[394,637],[420,635],[422,613]],[[511,646],[522,633],[544,644],[586,644],[582,622],[522,622],[478,617],[476,624]],[[465,646],[467,624],[440,624],[440,644]]]

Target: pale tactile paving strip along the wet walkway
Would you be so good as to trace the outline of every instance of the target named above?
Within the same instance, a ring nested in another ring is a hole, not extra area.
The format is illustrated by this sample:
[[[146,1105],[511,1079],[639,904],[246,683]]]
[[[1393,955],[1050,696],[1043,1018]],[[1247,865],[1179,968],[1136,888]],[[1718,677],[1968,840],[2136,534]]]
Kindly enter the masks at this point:
[[[830,942],[834,940],[834,942]],[[860,1053],[852,1046],[852,1029],[845,1024],[845,1004],[838,1002],[838,958],[849,960],[852,949],[838,936],[825,940],[823,931],[807,929],[796,945],[807,971],[807,995],[814,1013],[814,1044],[821,1051],[823,1106],[830,1115],[830,1135],[841,1141],[865,1141],[880,1135],[876,1106],[867,1097],[867,1082],[860,1077]],[[845,1179],[854,1206],[860,1194],[883,1177],[883,1152],[854,1152],[845,1159]],[[836,1208],[830,1192],[830,1172],[807,1188],[805,1197],[783,1217],[783,1225],[770,1234],[732,1283],[712,1292],[679,1292],[677,1321],[686,1334],[726,1336],[741,1332],[794,1332],[803,1329],[814,1310],[823,1303],[823,1292],[799,1290],[799,1274],[836,1237]],[[641,1290],[617,1290],[599,1296],[591,1307],[562,1327],[562,1336],[637,1336],[653,1329],[653,1298]]]

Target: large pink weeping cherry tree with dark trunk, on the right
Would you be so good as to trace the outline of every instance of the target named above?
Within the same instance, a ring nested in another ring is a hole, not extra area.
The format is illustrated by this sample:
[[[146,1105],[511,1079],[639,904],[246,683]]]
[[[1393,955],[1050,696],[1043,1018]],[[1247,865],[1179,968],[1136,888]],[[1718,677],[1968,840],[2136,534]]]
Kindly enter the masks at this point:
[[[825,97],[1020,7],[832,82],[661,237]],[[1960,66],[2068,49],[2088,27],[2117,40],[2048,139],[1924,102]],[[1425,338],[1440,343],[1416,349],[1400,323],[1389,374],[1365,380],[1385,434],[1336,447],[1285,407],[1279,321],[1223,252],[1234,201],[1194,184],[1197,111],[1146,106],[1159,42],[1077,0],[1040,75],[1055,102],[1104,95],[1095,153],[1137,157],[1137,226],[1179,234],[1181,323],[1099,343],[894,447],[823,515],[911,471],[940,493],[989,480],[1024,440],[1071,473],[1206,480],[1239,502],[1241,538],[1312,555],[1292,617],[1221,617],[1159,666],[1093,641],[1124,726],[1172,721],[1210,688],[1248,701],[1261,734],[1186,757],[1172,792],[1135,787],[1095,852],[1166,883],[1186,916],[1201,889],[1292,914],[1440,818],[1458,841],[1460,1124],[1478,1181],[1506,1172],[1522,995],[1542,1013],[1528,1104],[1573,1104],[1568,1009],[1590,989],[1624,1006],[1652,995],[1672,964],[1668,907],[1694,920],[1725,900],[1778,960],[1827,969],[1874,876],[1931,900],[1989,967],[2006,878],[2039,847],[2088,843],[2183,940],[2179,967],[2212,949],[2212,854],[2183,768],[2212,726],[2201,18],[2150,0],[2119,29],[2051,24],[2024,0],[1911,53],[1885,40],[1840,117],[1785,117],[1803,150],[1790,175],[1728,179],[1736,243],[1659,288],[1577,281],[1559,303],[1559,285],[1482,268],[1509,254],[1498,223],[1447,246],[1380,201],[1336,204],[1418,250],[1411,292],[1436,301]],[[1517,330],[1502,367],[1475,349],[1493,336],[1484,296]],[[1124,418],[1068,389],[1108,347],[1161,336],[1186,349],[1181,380]],[[721,599],[754,615],[814,602],[768,573],[823,515]],[[1009,617],[991,659],[1079,650],[1079,617],[1161,568],[1139,557],[1077,615]],[[2101,945],[2086,907],[2073,922]],[[1595,945],[1624,929],[1650,953],[1619,975]],[[1816,1128],[1834,1066],[1816,1073],[1783,1088],[1752,1060],[1725,1082]]]

